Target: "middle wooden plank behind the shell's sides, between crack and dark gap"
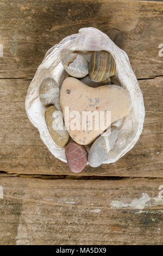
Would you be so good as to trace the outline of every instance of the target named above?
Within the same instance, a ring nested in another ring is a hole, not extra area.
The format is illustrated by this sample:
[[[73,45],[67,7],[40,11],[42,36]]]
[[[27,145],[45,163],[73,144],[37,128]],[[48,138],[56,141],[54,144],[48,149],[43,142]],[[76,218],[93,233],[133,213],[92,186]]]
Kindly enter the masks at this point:
[[[119,161],[87,166],[78,175],[163,177],[162,78],[142,80],[146,118],[142,135]],[[30,123],[24,101],[30,81],[0,80],[0,171],[22,174],[75,175],[66,163],[49,153],[39,132]]]

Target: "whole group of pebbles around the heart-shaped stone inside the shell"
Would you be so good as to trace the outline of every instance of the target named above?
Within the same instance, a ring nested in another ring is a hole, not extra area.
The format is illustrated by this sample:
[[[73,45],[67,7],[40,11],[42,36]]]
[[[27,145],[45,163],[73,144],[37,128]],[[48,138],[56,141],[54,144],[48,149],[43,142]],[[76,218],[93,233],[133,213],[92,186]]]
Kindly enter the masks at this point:
[[[40,101],[47,107],[45,121],[53,141],[59,147],[65,147],[70,170],[79,173],[87,162],[91,167],[104,162],[114,148],[131,102],[127,90],[111,84],[116,63],[109,52],[84,54],[64,50],[61,61],[67,72],[64,82],[60,87],[53,78],[45,78],[40,85]],[[70,117],[72,111],[81,115],[82,111],[110,111],[109,126],[105,130],[71,130],[64,125],[65,107],[69,108]]]

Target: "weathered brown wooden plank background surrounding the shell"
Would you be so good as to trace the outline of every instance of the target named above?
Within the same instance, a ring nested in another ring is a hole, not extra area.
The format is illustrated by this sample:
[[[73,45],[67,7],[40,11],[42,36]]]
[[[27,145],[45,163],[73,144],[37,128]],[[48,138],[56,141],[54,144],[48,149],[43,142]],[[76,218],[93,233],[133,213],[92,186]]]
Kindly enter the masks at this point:
[[[122,159],[75,175],[49,153],[24,101],[47,50],[89,26],[127,52],[146,118]],[[163,2],[2,0],[0,44],[0,244],[161,245]]]

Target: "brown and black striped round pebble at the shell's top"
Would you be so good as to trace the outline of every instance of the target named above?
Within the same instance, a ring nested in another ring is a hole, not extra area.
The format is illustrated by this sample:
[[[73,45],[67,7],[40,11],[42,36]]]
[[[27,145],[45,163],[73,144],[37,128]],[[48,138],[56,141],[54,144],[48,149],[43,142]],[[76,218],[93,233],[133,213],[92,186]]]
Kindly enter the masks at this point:
[[[108,52],[93,52],[89,63],[89,76],[97,81],[105,81],[113,76],[116,71],[116,63],[112,55]]]

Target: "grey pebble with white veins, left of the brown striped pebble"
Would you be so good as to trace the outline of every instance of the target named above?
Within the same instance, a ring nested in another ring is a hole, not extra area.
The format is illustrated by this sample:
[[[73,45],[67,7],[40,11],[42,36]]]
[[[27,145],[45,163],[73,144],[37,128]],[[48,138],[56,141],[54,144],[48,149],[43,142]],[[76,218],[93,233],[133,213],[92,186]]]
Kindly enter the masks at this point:
[[[61,61],[70,76],[82,78],[88,74],[88,62],[82,54],[64,51],[62,52]]]

